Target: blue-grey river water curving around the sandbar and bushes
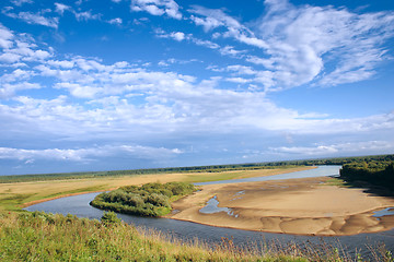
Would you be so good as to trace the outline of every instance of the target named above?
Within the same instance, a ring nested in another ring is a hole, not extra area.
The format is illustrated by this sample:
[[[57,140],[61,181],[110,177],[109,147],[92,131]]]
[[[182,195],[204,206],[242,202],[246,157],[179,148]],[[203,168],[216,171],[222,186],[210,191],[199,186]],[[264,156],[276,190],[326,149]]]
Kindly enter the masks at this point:
[[[339,174],[340,166],[320,166],[316,169],[297,171],[291,174],[276,175],[260,178],[250,179],[236,179],[227,181],[215,181],[198,184],[208,183],[225,183],[225,182],[246,182],[246,181],[266,181],[276,179],[289,179],[289,178],[303,178],[303,177],[321,177],[321,176],[337,176]],[[68,196],[57,200],[47,201],[44,203],[35,204],[26,207],[27,211],[44,211],[49,213],[59,214],[73,214],[79,217],[96,218],[100,219],[103,215],[103,211],[92,207],[89,203],[99,193],[88,193],[74,196]],[[390,214],[390,213],[389,213]],[[260,231],[247,231],[231,228],[221,228],[200,225],[190,222],[175,221],[169,218],[151,218],[151,217],[138,217],[131,215],[118,214],[118,217],[126,223],[134,224],[135,226],[141,226],[147,228],[153,228],[164,234],[170,234],[177,239],[193,241],[198,238],[199,241],[207,242],[208,245],[221,243],[222,238],[232,239],[234,245],[239,247],[246,247],[251,243],[273,241],[280,242],[283,247],[287,243],[308,243],[312,246],[320,246],[325,243],[333,247],[337,247],[339,250],[345,250],[349,254],[355,252],[361,253],[366,257],[370,257],[370,250],[368,247],[374,247],[379,243],[384,243],[386,249],[394,252],[394,229],[383,233],[373,234],[359,234],[355,236],[340,236],[340,237],[313,237],[313,236],[296,236],[286,234],[271,234]]]

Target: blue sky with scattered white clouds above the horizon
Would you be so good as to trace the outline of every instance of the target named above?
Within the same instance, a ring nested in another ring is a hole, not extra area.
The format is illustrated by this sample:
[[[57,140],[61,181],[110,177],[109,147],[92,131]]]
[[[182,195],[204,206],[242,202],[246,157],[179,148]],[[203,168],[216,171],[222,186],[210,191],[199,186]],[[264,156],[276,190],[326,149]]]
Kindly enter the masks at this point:
[[[394,2],[2,0],[0,175],[394,153]]]

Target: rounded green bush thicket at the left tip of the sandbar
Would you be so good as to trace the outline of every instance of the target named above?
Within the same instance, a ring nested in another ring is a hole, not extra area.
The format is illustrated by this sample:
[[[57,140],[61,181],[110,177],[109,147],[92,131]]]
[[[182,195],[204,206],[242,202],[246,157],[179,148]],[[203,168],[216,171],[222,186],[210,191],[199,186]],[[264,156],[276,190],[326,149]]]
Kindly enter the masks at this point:
[[[130,215],[162,216],[171,212],[172,200],[190,194],[195,190],[192,183],[185,182],[127,186],[99,194],[91,205]]]

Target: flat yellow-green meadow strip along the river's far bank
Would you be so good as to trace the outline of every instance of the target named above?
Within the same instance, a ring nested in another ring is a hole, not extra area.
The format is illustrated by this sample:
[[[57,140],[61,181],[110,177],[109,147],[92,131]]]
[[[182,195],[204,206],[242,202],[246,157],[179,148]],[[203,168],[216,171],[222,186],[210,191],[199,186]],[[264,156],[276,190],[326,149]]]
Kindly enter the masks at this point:
[[[68,179],[32,182],[0,183],[0,212],[20,211],[26,206],[83,193],[103,192],[123,186],[142,184],[147,182],[205,182],[247,177],[273,176],[314,168],[301,166],[291,168],[236,170],[223,172],[181,172],[155,174],[123,177],[96,177],[89,179]]]

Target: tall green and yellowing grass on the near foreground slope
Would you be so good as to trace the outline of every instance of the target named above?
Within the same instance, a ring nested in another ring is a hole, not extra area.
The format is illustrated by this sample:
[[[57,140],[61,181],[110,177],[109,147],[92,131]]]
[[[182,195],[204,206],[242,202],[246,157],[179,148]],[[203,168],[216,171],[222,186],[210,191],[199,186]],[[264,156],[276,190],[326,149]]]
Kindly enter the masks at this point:
[[[383,248],[373,252],[375,261],[393,259]],[[0,213],[0,261],[362,261],[341,253],[329,246],[280,242],[239,248],[227,238],[213,246],[185,242],[113,215],[99,222],[43,212]]]

